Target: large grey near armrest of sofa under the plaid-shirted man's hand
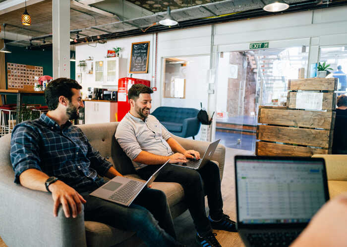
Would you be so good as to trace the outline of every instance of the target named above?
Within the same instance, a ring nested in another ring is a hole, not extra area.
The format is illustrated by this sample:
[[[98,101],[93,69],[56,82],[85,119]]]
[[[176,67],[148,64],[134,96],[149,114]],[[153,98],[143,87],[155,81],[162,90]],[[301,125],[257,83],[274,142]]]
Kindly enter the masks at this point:
[[[1,161],[3,163],[3,161]],[[7,246],[86,247],[84,213],[53,216],[52,195],[15,184],[10,165],[0,165],[0,236]]]

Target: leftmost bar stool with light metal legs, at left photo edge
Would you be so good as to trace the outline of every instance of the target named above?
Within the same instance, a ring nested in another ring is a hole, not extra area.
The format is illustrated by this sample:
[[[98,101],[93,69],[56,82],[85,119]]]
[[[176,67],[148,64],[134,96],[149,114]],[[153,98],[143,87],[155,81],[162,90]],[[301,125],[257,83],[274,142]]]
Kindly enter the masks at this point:
[[[17,108],[15,104],[0,106],[0,136],[12,132],[16,124]]]

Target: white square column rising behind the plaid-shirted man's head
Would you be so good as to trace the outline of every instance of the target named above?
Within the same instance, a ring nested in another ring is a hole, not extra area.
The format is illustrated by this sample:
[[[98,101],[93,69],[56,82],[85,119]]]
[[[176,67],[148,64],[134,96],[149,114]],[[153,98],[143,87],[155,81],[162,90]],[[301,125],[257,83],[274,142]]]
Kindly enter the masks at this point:
[[[70,0],[52,1],[53,79],[70,78]]]

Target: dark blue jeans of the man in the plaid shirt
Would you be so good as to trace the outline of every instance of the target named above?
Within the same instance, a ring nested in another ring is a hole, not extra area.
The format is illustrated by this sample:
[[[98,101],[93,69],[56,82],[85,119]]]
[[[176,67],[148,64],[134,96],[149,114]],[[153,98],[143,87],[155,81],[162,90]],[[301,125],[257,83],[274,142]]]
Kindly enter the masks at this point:
[[[145,188],[128,207],[89,195],[83,197],[87,201],[84,205],[85,220],[136,232],[150,247],[178,245],[174,240],[173,219],[162,191]]]

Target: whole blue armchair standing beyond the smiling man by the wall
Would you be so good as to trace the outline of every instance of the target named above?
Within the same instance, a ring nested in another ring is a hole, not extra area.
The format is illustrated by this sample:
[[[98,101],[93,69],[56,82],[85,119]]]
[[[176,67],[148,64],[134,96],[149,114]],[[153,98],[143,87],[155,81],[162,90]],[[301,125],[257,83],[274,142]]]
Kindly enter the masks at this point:
[[[183,138],[192,136],[195,139],[200,129],[198,112],[194,108],[161,106],[152,115],[174,135]]]

